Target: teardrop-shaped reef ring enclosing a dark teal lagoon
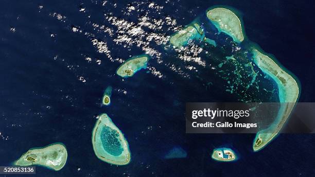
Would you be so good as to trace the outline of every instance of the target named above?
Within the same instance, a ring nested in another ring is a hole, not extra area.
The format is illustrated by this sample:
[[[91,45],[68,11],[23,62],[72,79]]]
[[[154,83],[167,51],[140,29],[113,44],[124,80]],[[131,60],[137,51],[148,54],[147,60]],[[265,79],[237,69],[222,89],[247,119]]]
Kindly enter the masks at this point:
[[[95,155],[103,162],[127,165],[131,161],[129,145],[124,134],[107,114],[101,114],[95,123],[92,145]]]

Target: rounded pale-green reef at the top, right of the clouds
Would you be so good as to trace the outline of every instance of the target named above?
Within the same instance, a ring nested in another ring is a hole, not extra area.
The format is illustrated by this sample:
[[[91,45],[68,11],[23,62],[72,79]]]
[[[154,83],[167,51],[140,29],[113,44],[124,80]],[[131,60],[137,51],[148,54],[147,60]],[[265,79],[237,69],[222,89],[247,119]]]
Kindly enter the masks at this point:
[[[241,22],[234,12],[226,8],[214,8],[208,10],[206,14],[219,32],[228,34],[238,43],[244,40]]]

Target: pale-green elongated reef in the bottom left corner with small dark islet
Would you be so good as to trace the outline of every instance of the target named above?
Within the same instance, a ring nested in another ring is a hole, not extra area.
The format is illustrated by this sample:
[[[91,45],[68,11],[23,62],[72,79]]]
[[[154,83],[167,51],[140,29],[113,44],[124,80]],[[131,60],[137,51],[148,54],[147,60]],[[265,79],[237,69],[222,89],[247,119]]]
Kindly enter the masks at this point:
[[[31,148],[24,153],[13,165],[39,165],[53,170],[60,170],[67,161],[67,150],[63,144],[56,143],[41,148]]]

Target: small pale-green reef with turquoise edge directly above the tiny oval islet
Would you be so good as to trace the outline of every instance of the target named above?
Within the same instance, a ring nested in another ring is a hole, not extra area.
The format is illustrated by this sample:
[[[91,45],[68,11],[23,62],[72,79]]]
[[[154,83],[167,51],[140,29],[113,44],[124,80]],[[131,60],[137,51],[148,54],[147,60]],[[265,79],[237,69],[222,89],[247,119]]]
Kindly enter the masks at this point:
[[[148,55],[135,56],[122,63],[116,73],[122,78],[132,77],[138,70],[146,69],[149,60]]]

